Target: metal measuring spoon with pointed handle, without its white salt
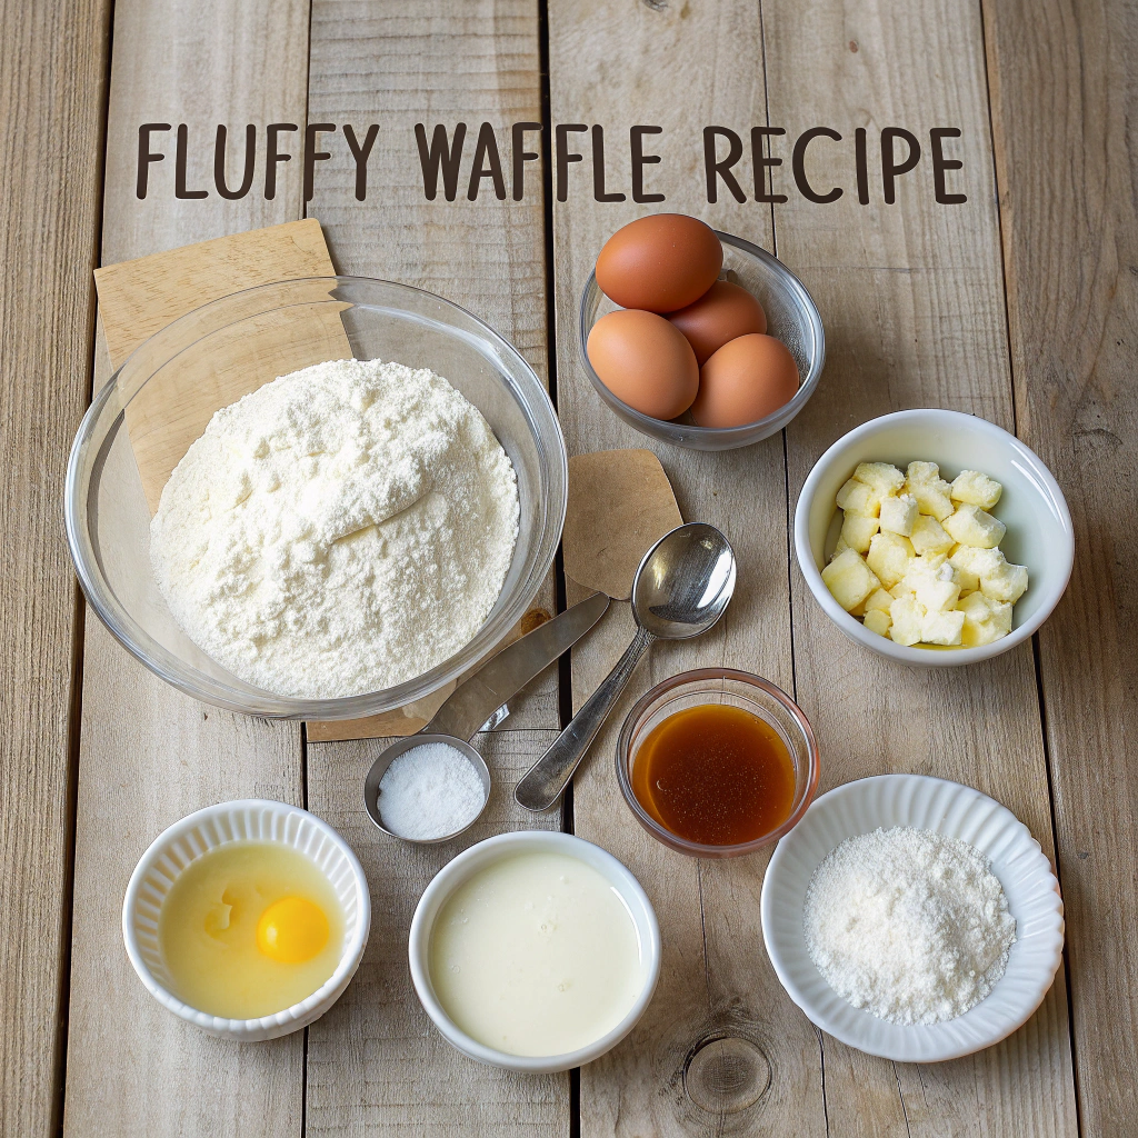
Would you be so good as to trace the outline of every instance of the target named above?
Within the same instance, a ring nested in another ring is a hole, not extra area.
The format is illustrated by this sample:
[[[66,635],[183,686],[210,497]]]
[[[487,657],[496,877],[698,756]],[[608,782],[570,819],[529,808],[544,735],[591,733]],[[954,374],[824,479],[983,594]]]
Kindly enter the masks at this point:
[[[481,816],[489,800],[490,773],[485,759],[470,745],[470,740],[483,728],[496,726],[505,702],[517,695],[535,676],[544,671],[563,652],[568,652],[604,616],[609,599],[603,593],[586,597],[571,609],[558,613],[552,620],[527,633],[509,648],[502,649],[486,661],[472,676],[451,693],[446,702],[422,731],[384,750],[368,772],[363,786],[368,816],[384,831],[401,841],[432,846],[448,842],[465,832]],[[483,810],[479,810],[461,830],[439,838],[417,839],[395,834],[384,825],[379,809],[379,784],[387,768],[405,751],[426,743],[444,743],[470,760],[483,783]]]

